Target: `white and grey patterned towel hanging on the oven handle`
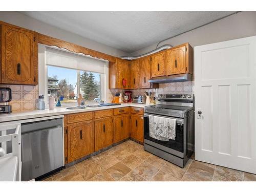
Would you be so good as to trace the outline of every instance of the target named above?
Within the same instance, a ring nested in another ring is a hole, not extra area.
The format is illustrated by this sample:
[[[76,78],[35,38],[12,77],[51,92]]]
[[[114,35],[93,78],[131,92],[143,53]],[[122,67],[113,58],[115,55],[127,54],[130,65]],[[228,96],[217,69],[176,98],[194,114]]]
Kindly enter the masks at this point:
[[[168,141],[169,139],[175,140],[176,119],[150,115],[149,120],[150,137],[161,141]]]

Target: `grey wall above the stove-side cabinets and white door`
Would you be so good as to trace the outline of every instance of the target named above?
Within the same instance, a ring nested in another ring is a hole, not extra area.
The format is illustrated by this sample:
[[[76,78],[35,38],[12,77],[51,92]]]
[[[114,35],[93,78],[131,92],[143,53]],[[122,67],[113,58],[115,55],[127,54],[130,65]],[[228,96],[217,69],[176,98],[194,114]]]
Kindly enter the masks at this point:
[[[239,12],[217,22],[165,40],[159,46],[164,44],[177,46],[184,42],[189,42],[192,47],[195,47],[254,35],[256,35],[256,11]],[[131,55],[141,55],[156,49],[156,46],[157,43],[135,51]]]

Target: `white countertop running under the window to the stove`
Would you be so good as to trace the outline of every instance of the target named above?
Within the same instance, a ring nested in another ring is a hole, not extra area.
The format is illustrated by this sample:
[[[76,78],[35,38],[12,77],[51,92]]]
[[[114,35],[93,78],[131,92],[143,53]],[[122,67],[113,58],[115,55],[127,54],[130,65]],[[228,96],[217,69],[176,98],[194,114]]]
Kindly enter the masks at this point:
[[[89,111],[99,111],[99,110],[106,110],[106,109],[115,109],[115,108],[123,108],[125,106],[135,106],[137,108],[144,108],[146,105],[151,104],[140,104],[140,103],[121,103],[121,105],[114,105],[114,106],[103,106],[99,108],[87,108],[87,109],[80,109],[80,110],[68,110],[66,107],[56,107],[53,110],[45,109],[45,110],[34,110],[34,111],[22,111],[22,112],[12,112],[10,114],[3,114],[0,115],[0,122],[7,122],[7,121],[16,121],[16,120],[24,120],[24,119],[32,119],[32,118],[39,118],[39,117],[49,117],[55,115],[65,115],[65,114],[72,114],[72,113],[81,113],[81,112],[89,112]]]

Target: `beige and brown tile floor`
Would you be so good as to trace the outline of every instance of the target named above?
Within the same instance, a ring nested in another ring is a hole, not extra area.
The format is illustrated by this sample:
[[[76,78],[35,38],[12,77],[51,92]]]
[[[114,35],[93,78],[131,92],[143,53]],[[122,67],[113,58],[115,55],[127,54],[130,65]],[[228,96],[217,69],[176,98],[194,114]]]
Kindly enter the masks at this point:
[[[256,181],[256,175],[193,159],[180,168],[127,140],[44,181]]]

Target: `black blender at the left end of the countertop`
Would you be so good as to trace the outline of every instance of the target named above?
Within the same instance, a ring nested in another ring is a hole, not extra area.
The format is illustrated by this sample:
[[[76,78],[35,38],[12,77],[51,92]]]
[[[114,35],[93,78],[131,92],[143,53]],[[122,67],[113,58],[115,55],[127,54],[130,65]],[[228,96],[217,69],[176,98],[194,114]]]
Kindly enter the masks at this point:
[[[12,90],[10,88],[0,88],[0,114],[11,113]]]

